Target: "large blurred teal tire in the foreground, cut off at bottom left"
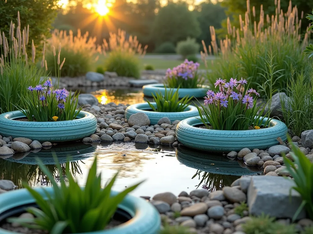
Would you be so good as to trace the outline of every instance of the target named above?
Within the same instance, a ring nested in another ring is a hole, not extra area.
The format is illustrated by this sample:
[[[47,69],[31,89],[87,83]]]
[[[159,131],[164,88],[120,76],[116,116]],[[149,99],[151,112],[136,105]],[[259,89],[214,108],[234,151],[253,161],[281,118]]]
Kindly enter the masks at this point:
[[[44,190],[52,194],[53,189],[35,188],[44,198],[47,195]],[[117,192],[111,191],[111,195],[115,196]],[[0,195],[0,217],[10,209],[16,207],[27,206],[34,203],[33,197],[26,189],[19,189]],[[127,195],[118,206],[131,215],[131,219],[119,226],[109,230],[97,232],[85,232],[82,234],[158,234],[161,226],[161,218],[157,210],[142,198]],[[0,220],[1,222],[1,220]],[[18,232],[10,232],[0,228],[0,234],[16,234]]]

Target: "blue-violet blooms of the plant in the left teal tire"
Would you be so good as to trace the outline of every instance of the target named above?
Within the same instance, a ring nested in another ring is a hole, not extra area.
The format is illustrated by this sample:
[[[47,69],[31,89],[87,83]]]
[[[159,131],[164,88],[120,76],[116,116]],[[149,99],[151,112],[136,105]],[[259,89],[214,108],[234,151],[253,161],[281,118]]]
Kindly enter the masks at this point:
[[[47,96],[51,96],[52,92],[52,95],[55,95],[55,99],[58,102],[57,107],[60,110],[65,108],[64,103],[69,96],[69,91],[65,88],[53,90],[53,85],[50,79],[44,82],[44,85],[36,85],[36,87],[34,88],[32,86],[29,86],[27,89],[30,90],[32,93],[34,93],[34,91],[37,91],[38,103],[39,101],[41,101],[43,106],[47,106]]]

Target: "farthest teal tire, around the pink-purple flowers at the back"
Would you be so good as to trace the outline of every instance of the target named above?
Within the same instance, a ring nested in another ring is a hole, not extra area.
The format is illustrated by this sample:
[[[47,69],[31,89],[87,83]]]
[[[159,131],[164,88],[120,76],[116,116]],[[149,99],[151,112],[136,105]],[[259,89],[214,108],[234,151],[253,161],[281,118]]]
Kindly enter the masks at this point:
[[[203,98],[206,96],[206,93],[208,92],[208,89],[210,87],[207,85],[202,85],[199,88],[196,89],[179,89],[178,90],[178,96],[179,98],[183,98],[186,95],[193,95],[195,98]],[[174,92],[177,89],[174,89]],[[151,85],[144,85],[142,87],[143,94],[147,97],[152,97],[153,95],[156,95],[156,93],[162,93],[162,95],[165,94],[165,88],[164,84],[151,84]]]

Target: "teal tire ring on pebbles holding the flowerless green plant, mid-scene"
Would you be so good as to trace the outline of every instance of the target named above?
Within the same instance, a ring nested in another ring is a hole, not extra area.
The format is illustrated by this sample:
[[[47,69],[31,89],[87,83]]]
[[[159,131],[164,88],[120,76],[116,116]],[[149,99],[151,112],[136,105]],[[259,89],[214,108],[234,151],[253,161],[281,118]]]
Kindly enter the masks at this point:
[[[156,107],[155,102],[151,102],[151,104],[154,107]],[[148,111],[148,110],[151,110],[151,107],[149,106],[148,103],[139,103],[139,104],[130,105],[125,110],[125,118],[129,119],[129,117],[131,115],[136,114],[138,112],[142,112],[142,113],[145,113],[146,115],[148,115],[148,117],[150,119],[150,124],[154,125],[154,124],[157,124],[157,122],[162,117],[167,117],[171,121],[174,121],[174,120],[183,120],[183,119],[187,119],[189,117],[199,115],[198,109],[192,105],[189,105],[185,109],[186,111],[182,111],[182,112],[156,112],[156,111]]]

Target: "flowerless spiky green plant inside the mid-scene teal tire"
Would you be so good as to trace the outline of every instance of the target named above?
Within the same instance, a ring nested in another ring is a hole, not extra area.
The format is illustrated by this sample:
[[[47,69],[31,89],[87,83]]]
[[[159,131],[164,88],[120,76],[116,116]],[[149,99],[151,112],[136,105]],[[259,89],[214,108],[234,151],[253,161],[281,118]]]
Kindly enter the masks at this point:
[[[179,100],[178,90],[174,92],[174,89],[167,90],[165,88],[164,96],[162,93],[156,93],[156,96],[152,94],[152,97],[154,101],[156,102],[156,107],[152,105],[148,100],[147,103],[151,107],[153,111],[157,112],[182,112],[184,111],[187,106],[189,105],[190,100],[192,100],[192,97],[189,98],[189,96],[183,97],[181,100]]]

